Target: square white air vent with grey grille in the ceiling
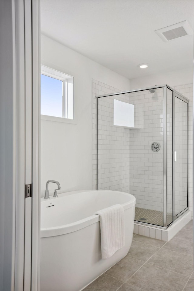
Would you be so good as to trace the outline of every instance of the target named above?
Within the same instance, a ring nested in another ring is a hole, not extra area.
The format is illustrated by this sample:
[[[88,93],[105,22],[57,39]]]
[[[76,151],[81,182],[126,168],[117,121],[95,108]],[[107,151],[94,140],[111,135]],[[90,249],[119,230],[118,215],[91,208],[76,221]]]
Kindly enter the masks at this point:
[[[174,38],[193,34],[193,31],[186,20],[161,29],[157,29],[155,32],[157,35],[159,35],[160,38],[162,38],[163,42],[168,42]]]

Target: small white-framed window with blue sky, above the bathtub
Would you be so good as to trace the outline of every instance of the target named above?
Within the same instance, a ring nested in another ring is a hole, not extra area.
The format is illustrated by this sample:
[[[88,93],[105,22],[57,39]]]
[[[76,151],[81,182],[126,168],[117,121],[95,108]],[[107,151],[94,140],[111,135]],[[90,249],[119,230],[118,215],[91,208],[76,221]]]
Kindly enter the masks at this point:
[[[74,78],[41,65],[41,114],[74,119]]]

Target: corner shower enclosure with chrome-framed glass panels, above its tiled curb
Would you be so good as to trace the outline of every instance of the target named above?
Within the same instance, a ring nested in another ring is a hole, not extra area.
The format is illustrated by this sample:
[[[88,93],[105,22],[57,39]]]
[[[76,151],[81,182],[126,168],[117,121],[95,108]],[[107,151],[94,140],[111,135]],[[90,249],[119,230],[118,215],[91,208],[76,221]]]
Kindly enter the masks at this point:
[[[136,198],[135,221],[188,210],[188,99],[168,85],[96,96],[97,188]]]

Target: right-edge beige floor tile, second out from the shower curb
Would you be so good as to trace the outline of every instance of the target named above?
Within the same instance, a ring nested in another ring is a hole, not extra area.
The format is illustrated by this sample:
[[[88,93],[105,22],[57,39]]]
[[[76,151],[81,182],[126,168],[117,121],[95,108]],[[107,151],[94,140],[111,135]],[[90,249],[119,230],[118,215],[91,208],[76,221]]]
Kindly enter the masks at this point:
[[[187,256],[193,256],[193,242],[173,237],[162,249],[169,249]]]

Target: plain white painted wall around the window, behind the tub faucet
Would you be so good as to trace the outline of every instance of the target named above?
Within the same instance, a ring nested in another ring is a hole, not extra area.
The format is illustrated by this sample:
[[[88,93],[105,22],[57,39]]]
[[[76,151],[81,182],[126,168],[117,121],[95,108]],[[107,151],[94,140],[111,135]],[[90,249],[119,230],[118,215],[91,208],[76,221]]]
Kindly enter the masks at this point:
[[[129,90],[129,79],[41,35],[41,64],[75,77],[76,124],[41,121],[41,196],[49,179],[61,191],[92,189],[92,79]],[[50,185],[49,190],[55,189]]]

